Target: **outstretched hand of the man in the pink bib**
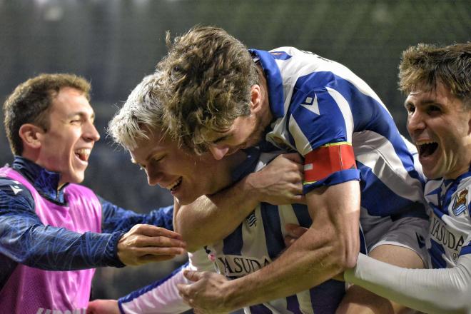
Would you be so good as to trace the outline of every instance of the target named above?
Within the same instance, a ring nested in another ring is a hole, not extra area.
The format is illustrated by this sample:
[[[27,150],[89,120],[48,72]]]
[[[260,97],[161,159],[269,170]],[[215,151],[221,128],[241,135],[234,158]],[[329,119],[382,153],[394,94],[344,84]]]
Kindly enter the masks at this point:
[[[125,265],[142,265],[170,260],[183,254],[186,243],[181,236],[165,228],[136,225],[118,240],[118,258]]]

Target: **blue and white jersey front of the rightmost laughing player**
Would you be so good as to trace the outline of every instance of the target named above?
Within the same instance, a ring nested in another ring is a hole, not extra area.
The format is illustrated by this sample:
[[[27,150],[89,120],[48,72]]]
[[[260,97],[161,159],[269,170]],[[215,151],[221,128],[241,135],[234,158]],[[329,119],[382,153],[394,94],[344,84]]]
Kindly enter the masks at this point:
[[[427,248],[433,268],[452,268],[460,255],[471,253],[471,168],[455,180],[425,185],[430,230]]]

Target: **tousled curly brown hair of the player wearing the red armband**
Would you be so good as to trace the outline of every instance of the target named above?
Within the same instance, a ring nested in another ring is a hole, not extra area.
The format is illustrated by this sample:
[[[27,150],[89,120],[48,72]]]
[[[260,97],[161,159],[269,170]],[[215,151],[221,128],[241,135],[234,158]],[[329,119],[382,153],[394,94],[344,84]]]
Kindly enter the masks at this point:
[[[195,26],[173,44],[157,66],[163,73],[164,123],[173,138],[201,153],[202,129],[224,131],[250,114],[250,87],[258,72],[247,47],[223,29]]]

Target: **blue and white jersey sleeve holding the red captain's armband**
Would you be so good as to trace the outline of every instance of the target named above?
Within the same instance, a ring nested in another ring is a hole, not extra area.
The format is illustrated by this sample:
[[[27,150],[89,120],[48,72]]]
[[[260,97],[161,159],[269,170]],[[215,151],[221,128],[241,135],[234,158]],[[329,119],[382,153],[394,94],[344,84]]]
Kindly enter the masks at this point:
[[[351,106],[358,100],[357,94],[360,92],[352,84],[330,72],[315,72],[298,78],[288,109],[290,143],[302,156],[325,144],[351,144],[353,129],[358,123]],[[305,183],[303,191],[308,193],[319,186],[354,180],[360,180],[358,169],[338,170],[323,180]]]

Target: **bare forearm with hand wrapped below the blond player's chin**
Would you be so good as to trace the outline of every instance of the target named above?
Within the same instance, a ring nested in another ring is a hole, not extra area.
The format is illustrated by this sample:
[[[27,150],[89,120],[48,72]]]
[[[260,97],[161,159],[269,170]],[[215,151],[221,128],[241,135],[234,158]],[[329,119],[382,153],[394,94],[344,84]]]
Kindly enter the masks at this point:
[[[298,153],[282,154],[234,186],[185,206],[176,205],[175,230],[192,251],[228,236],[260,202],[304,203],[302,167]]]

